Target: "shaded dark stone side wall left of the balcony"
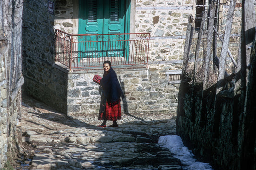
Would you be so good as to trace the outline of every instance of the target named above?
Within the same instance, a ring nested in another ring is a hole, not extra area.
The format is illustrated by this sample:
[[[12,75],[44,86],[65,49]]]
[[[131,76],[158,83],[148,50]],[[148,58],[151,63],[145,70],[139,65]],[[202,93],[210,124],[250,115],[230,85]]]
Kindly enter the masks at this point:
[[[67,76],[54,63],[54,15],[48,11],[48,2],[24,1],[23,89],[38,100],[65,112]]]

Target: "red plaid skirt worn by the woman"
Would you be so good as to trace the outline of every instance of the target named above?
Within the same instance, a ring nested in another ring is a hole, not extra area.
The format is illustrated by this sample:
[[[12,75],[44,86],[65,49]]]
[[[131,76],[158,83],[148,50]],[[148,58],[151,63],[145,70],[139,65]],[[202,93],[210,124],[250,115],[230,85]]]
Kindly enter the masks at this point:
[[[118,119],[121,119],[120,101],[114,106],[110,106],[108,102],[106,102],[105,111],[102,113],[99,113],[98,115],[98,120],[104,120],[104,119],[112,120],[112,121],[117,121]]]

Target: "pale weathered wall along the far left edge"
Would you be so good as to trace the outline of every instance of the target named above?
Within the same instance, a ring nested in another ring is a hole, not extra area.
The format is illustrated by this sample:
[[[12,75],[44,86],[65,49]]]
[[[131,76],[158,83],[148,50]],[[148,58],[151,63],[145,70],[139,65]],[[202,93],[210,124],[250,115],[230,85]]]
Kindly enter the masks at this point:
[[[21,141],[22,3],[0,1],[0,169]]]

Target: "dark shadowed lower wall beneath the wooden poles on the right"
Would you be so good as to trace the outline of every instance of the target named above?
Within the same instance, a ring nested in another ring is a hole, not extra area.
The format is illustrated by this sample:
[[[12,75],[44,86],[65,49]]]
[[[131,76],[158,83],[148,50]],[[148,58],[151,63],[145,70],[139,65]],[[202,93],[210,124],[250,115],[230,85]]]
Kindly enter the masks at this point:
[[[255,75],[253,79],[256,79]],[[243,165],[245,161],[247,167],[250,167],[247,170],[254,170],[256,168],[254,125],[256,119],[255,112],[253,113],[252,110],[255,110],[255,107],[250,106],[248,110],[251,111],[237,115],[235,108],[240,107],[240,103],[234,96],[233,87],[219,92],[216,99],[216,86],[204,91],[206,96],[204,98],[202,98],[202,89],[202,85],[193,87],[185,81],[180,84],[176,120],[177,135],[181,136],[183,143],[193,150],[197,158],[212,161],[216,170],[243,170],[243,167],[239,168],[239,164]],[[251,91],[253,89],[255,88]],[[251,99],[255,101],[255,97],[251,96]],[[250,120],[245,121],[243,115],[250,117]],[[245,126],[250,132],[246,138],[241,135],[244,133]],[[250,142],[242,146],[242,141]],[[239,152],[241,146],[242,152]],[[244,160],[243,155],[248,154],[250,159]]]

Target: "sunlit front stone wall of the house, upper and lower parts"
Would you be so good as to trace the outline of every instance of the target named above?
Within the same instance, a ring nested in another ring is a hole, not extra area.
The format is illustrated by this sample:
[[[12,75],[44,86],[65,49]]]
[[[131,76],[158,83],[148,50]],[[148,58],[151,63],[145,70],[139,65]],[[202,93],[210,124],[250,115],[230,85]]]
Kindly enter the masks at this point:
[[[75,10],[73,11],[77,8],[76,3],[77,0],[56,0],[54,28],[77,34],[78,25],[74,16]],[[126,109],[131,113],[162,112],[175,115],[178,85],[168,85],[165,71],[181,69],[187,20],[192,14],[192,5],[191,1],[131,0],[131,8],[134,8],[131,11],[136,13],[135,18],[130,19],[134,20],[131,21],[130,32],[131,30],[136,33],[151,32],[150,52],[148,68],[144,68],[143,71],[137,71],[136,68],[129,71],[118,68],[120,70],[118,74],[124,83],[123,90],[127,94],[127,101],[122,104],[122,110]],[[83,73],[82,76],[77,71],[69,73],[68,114],[98,114],[99,94],[98,86],[92,83],[94,74],[96,73]],[[89,80],[85,81],[85,77]],[[169,91],[165,89],[168,87],[170,87]],[[146,102],[147,100],[149,102]]]

